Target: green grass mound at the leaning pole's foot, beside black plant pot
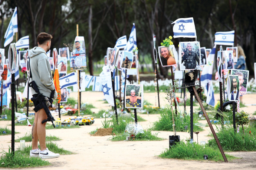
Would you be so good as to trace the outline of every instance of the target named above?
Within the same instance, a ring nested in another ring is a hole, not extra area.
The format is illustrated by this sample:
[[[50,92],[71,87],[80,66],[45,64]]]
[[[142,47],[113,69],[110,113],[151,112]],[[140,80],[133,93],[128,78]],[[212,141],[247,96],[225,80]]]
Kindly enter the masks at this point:
[[[219,149],[214,149],[207,145],[199,145],[197,143],[185,143],[181,141],[171,149],[166,149],[159,157],[185,159],[185,160],[204,160],[204,154],[208,155],[208,160],[224,161]],[[235,159],[234,156],[226,154],[228,160]]]

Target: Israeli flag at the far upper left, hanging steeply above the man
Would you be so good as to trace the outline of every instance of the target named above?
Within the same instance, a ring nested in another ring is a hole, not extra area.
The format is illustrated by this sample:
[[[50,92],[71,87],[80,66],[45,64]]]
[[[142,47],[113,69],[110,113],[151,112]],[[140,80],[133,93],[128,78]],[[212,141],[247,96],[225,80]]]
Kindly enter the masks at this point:
[[[4,47],[12,43],[13,35],[14,33],[17,33],[17,32],[18,32],[18,17],[17,17],[17,7],[15,7],[9,26],[7,27],[7,30],[4,34],[4,38],[5,38]]]

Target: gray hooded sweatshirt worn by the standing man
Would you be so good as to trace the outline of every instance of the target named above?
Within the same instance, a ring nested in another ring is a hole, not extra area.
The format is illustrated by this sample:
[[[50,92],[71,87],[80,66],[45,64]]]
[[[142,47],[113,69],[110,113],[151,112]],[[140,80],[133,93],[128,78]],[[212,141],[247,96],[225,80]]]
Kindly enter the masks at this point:
[[[39,92],[50,98],[52,90],[55,90],[55,86],[52,79],[50,70],[50,64],[46,52],[41,47],[34,47],[29,51],[30,58],[30,72],[32,73],[31,81],[35,81]],[[37,94],[33,88],[31,88],[32,95]],[[55,90],[54,98],[57,97]]]

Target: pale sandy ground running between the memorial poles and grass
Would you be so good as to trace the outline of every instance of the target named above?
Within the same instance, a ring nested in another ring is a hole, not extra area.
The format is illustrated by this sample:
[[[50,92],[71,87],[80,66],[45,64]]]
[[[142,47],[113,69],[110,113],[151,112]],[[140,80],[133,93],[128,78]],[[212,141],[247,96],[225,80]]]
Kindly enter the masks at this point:
[[[70,94],[77,97],[77,93]],[[180,96],[180,94],[177,94]],[[218,95],[215,96],[216,99]],[[82,102],[92,103],[99,109],[110,109],[107,103],[103,103],[102,92],[82,92]],[[160,105],[164,106],[167,101],[164,100],[165,93],[160,93]],[[155,93],[144,93],[144,99],[154,105]],[[244,97],[247,104],[256,103],[256,95],[250,94]],[[183,110],[183,108],[181,107]],[[256,106],[247,106],[243,110],[250,113],[256,110]],[[189,111],[189,107],[187,107]],[[139,122],[144,129],[150,128],[152,123],[157,121],[160,115],[138,114],[146,119],[145,122]],[[72,116],[62,116],[62,119]],[[55,116],[57,118],[57,116]],[[211,162],[211,161],[187,161],[178,159],[161,159],[158,155],[168,148],[168,136],[173,132],[152,131],[158,133],[158,137],[164,138],[161,141],[119,141],[112,142],[109,140],[112,136],[91,136],[89,132],[96,128],[101,128],[104,119],[95,119],[91,126],[81,126],[78,129],[51,129],[46,130],[46,135],[55,135],[62,140],[56,141],[60,146],[74,152],[72,155],[61,155],[56,159],[48,159],[51,166],[40,167],[42,170],[48,169],[256,169],[256,152],[232,152],[228,153],[241,159],[233,160],[229,163]],[[206,124],[206,120],[200,121]],[[0,127],[11,129],[10,121],[0,121]],[[15,131],[20,132],[15,135],[15,139],[24,136],[31,131],[31,126],[15,126]],[[209,127],[198,134],[198,141],[207,141],[210,139],[207,135],[210,132]],[[189,137],[186,132],[177,132],[181,140]],[[196,134],[194,134],[194,140]],[[197,140],[195,140],[197,141]],[[27,145],[31,142],[26,142]],[[11,145],[11,135],[0,136],[0,150],[8,151]],[[20,143],[15,143],[18,148]]]

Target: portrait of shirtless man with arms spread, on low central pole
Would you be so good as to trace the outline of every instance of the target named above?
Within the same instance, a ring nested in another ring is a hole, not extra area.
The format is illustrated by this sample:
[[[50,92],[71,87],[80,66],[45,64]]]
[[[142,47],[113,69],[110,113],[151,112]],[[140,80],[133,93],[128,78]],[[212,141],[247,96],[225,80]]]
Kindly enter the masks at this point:
[[[125,85],[125,108],[142,109],[143,106],[143,85]]]

